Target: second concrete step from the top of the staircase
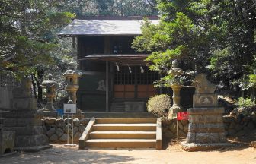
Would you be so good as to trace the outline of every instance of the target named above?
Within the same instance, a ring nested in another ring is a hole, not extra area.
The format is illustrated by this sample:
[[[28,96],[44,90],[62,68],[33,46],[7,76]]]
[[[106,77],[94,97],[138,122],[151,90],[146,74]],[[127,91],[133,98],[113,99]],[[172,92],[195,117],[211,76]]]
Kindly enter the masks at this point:
[[[156,124],[96,124],[93,131],[156,131]]]

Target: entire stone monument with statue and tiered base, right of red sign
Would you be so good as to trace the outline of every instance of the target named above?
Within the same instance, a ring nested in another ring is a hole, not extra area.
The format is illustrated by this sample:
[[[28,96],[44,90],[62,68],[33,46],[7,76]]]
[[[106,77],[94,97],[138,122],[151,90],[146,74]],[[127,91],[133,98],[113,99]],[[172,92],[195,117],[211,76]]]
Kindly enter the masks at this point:
[[[212,150],[230,146],[222,121],[224,108],[218,106],[216,85],[206,79],[206,74],[197,74],[193,108],[187,109],[189,126],[187,140],[181,143],[186,151]]]

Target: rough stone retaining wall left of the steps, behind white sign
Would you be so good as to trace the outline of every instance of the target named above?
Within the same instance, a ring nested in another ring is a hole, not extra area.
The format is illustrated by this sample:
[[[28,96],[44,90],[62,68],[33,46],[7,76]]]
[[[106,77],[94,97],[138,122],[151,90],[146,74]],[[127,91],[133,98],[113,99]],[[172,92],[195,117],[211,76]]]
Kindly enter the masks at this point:
[[[73,119],[74,124],[74,143],[78,144],[78,140],[81,137],[83,131],[85,131],[86,125],[90,120],[88,118]],[[49,138],[50,143],[65,143],[69,137],[69,144],[72,137],[72,118],[69,118],[69,126],[67,125],[68,119],[56,119],[46,118],[43,119],[43,133]],[[69,128],[69,135],[68,135]]]

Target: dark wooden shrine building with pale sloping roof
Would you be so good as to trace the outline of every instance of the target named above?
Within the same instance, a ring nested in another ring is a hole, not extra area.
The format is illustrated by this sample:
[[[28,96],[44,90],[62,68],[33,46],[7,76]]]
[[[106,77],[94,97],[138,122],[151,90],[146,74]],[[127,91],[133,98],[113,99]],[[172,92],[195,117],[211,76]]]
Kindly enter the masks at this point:
[[[158,24],[158,17],[149,17]],[[87,17],[75,19],[60,33],[77,44],[78,107],[95,112],[144,112],[150,96],[162,93],[153,87],[159,74],[144,61],[149,54],[132,49],[142,34],[143,17]]]

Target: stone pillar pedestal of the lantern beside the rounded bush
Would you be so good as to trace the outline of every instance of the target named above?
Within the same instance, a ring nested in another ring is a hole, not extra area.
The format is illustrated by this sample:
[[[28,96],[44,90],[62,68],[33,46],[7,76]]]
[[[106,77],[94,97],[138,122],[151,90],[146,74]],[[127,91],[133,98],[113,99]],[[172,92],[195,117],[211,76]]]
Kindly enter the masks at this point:
[[[168,114],[168,118],[176,118],[177,112],[181,112],[183,109],[181,107],[181,85],[174,84],[171,85],[171,89],[173,92],[173,105],[170,108],[170,112]]]

